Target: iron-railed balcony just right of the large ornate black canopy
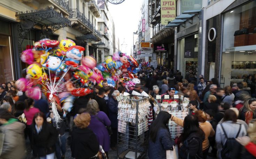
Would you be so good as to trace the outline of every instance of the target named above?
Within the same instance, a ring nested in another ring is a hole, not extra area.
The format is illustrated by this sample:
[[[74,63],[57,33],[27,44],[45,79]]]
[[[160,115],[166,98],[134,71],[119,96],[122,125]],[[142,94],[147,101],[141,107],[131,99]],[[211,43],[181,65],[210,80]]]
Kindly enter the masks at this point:
[[[79,29],[83,34],[94,32],[92,23],[78,9],[69,9],[69,18],[71,18],[70,20],[72,21],[72,28],[75,27]]]

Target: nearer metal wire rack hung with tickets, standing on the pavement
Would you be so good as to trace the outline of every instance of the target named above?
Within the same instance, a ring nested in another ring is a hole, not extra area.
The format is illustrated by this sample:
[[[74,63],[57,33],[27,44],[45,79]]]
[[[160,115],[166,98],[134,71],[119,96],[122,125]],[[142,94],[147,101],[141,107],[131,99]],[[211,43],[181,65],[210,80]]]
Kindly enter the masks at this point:
[[[149,97],[123,96],[118,103],[117,158],[147,156]]]

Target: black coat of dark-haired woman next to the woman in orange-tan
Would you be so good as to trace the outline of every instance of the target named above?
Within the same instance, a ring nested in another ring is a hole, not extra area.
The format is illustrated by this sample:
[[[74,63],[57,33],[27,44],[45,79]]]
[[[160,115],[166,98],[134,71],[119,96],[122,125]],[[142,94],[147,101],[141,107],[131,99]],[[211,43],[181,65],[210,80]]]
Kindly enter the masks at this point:
[[[182,159],[195,159],[203,158],[202,143],[204,141],[204,136],[200,136],[199,133],[193,132],[189,134],[187,139],[183,142],[180,148],[179,156]],[[189,156],[189,157],[188,157]]]

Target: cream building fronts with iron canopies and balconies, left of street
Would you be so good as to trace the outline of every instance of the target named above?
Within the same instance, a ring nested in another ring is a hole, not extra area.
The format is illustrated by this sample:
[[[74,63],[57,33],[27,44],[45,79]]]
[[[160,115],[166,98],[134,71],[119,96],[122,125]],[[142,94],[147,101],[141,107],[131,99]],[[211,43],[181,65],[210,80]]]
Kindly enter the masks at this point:
[[[108,42],[98,30],[100,5],[96,0],[1,0],[0,82],[24,76],[22,70],[28,65],[20,60],[20,53],[42,38],[72,39],[85,47],[84,55],[102,62],[99,48]]]

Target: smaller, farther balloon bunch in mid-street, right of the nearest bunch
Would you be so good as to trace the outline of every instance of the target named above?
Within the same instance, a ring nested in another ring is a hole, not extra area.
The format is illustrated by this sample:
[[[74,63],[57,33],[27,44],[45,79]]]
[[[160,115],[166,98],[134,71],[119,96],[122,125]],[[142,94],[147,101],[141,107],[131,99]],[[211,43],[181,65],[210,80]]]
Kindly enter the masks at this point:
[[[117,83],[122,83],[129,90],[135,85],[132,79],[137,78],[138,66],[138,62],[131,55],[116,52],[113,56],[106,56],[105,62],[99,64],[97,68],[102,72],[109,86],[116,87]]]

